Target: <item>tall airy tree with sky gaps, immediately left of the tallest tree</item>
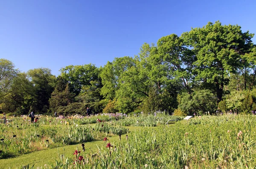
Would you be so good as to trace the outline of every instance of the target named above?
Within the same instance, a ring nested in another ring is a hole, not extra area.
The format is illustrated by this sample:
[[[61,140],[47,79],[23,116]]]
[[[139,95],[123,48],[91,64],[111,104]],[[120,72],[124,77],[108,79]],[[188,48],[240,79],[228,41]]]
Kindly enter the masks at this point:
[[[176,34],[161,37],[157,41],[157,54],[166,67],[166,76],[169,79],[173,77],[181,79],[187,92],[191,93],[194,78],[192,63],[196,60],[196,56],[184,46],[183,39]]]

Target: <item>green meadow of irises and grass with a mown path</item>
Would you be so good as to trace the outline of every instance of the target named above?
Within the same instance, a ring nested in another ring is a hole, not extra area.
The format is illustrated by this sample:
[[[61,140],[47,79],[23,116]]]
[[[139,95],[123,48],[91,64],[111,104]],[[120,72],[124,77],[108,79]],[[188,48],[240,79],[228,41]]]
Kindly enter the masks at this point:
[[[164,125],[171,119],[178,121]],[[182,119],[163,113],[42,116],[31,124],[15,117],[0,124],[0,168],[256,168],[255,115]]]

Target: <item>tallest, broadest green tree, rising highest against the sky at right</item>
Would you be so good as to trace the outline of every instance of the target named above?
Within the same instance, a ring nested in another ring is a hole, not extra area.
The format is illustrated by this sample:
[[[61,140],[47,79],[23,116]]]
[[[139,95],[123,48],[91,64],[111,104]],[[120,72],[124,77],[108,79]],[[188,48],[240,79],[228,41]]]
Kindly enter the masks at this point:
[[[195,80],[215,86],[217,104],[222,99],[229,73],[235,73],[240,66],[240,51],[246,48],[252,36],[243,33],[238,25],[222,26],[219,21],[182,34],[186,46],[192,48],[197,57],[193,63]]]

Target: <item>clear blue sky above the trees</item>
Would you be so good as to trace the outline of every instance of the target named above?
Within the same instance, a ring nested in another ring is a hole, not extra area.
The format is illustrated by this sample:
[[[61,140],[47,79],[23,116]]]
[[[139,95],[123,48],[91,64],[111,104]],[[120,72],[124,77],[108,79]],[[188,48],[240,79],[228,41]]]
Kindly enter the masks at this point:
[[[256,33],[256,0],[0,0],[0,58],[58,75],[217,20]]]

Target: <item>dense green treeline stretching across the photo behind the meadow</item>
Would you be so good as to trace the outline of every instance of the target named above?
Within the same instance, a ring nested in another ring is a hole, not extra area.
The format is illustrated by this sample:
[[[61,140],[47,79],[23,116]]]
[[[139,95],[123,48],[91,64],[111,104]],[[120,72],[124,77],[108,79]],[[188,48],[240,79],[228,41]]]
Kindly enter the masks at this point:
[[[1,59],[0,107],[15,114],[84,114],[86,107],[94,113],[250,113],[256,110],[253,36],[238,25],[208,23],[145,43],[138,55],[104,67],[66,66],[58,77],[46,68],[19,72]]]

